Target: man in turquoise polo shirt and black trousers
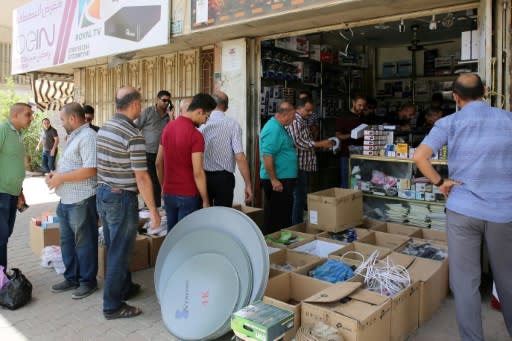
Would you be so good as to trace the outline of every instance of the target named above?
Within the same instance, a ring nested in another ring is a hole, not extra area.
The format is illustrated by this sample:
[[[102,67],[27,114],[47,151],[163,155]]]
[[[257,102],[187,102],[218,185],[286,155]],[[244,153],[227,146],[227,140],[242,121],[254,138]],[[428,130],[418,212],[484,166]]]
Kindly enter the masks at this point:
[[[292,223],[293,190],[298,173],[297,152],[285,127],[292,123],[295,107],[287,101],[260,133],[260,178],[265,192],[264,233]]]

